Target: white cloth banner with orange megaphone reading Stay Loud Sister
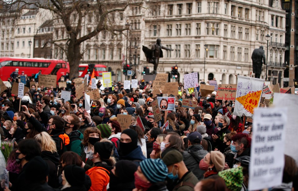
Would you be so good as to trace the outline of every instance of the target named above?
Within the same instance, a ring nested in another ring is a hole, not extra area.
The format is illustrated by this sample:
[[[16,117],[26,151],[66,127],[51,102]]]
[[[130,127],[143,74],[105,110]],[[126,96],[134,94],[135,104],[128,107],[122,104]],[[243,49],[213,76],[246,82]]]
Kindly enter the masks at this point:
[[[234,115],[251,117],[254,108],[259,106],[264,79],[237,76],[237,91]]]

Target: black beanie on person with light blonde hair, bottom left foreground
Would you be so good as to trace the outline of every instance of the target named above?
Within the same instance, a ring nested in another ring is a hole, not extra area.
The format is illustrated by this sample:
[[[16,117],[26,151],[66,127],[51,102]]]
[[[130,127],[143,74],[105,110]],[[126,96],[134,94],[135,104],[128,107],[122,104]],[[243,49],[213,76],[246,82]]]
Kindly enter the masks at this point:
[[[67,165],[64,168],[64,176],[73,187],[85,184],[85,170],[77,165]]]

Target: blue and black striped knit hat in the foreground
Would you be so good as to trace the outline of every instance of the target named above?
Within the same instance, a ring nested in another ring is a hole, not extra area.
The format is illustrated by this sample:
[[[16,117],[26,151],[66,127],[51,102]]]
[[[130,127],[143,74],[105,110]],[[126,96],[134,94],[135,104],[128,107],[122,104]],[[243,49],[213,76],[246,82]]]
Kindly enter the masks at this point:
[[[161,159],[146,159],[140,162],[140,168],[151,182],[163,182],[167,178],[167,166]]]

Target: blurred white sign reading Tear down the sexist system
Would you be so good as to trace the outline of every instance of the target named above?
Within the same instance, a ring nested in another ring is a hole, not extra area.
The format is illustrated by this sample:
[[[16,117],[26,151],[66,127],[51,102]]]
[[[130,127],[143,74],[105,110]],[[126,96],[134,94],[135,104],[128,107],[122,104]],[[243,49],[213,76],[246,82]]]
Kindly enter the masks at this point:
[[[254,111],[256,128],[251,139],[249,190],[282,184],[287,113],[287,108],[281,107]]]

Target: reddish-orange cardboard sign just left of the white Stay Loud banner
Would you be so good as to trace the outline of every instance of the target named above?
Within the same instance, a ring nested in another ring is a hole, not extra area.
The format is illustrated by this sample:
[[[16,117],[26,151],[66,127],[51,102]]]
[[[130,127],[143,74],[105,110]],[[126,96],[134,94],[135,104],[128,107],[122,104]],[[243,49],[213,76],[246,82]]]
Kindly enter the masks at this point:
[[[235,101],[237,85],[219,84],[216,92],[216,100]]]

